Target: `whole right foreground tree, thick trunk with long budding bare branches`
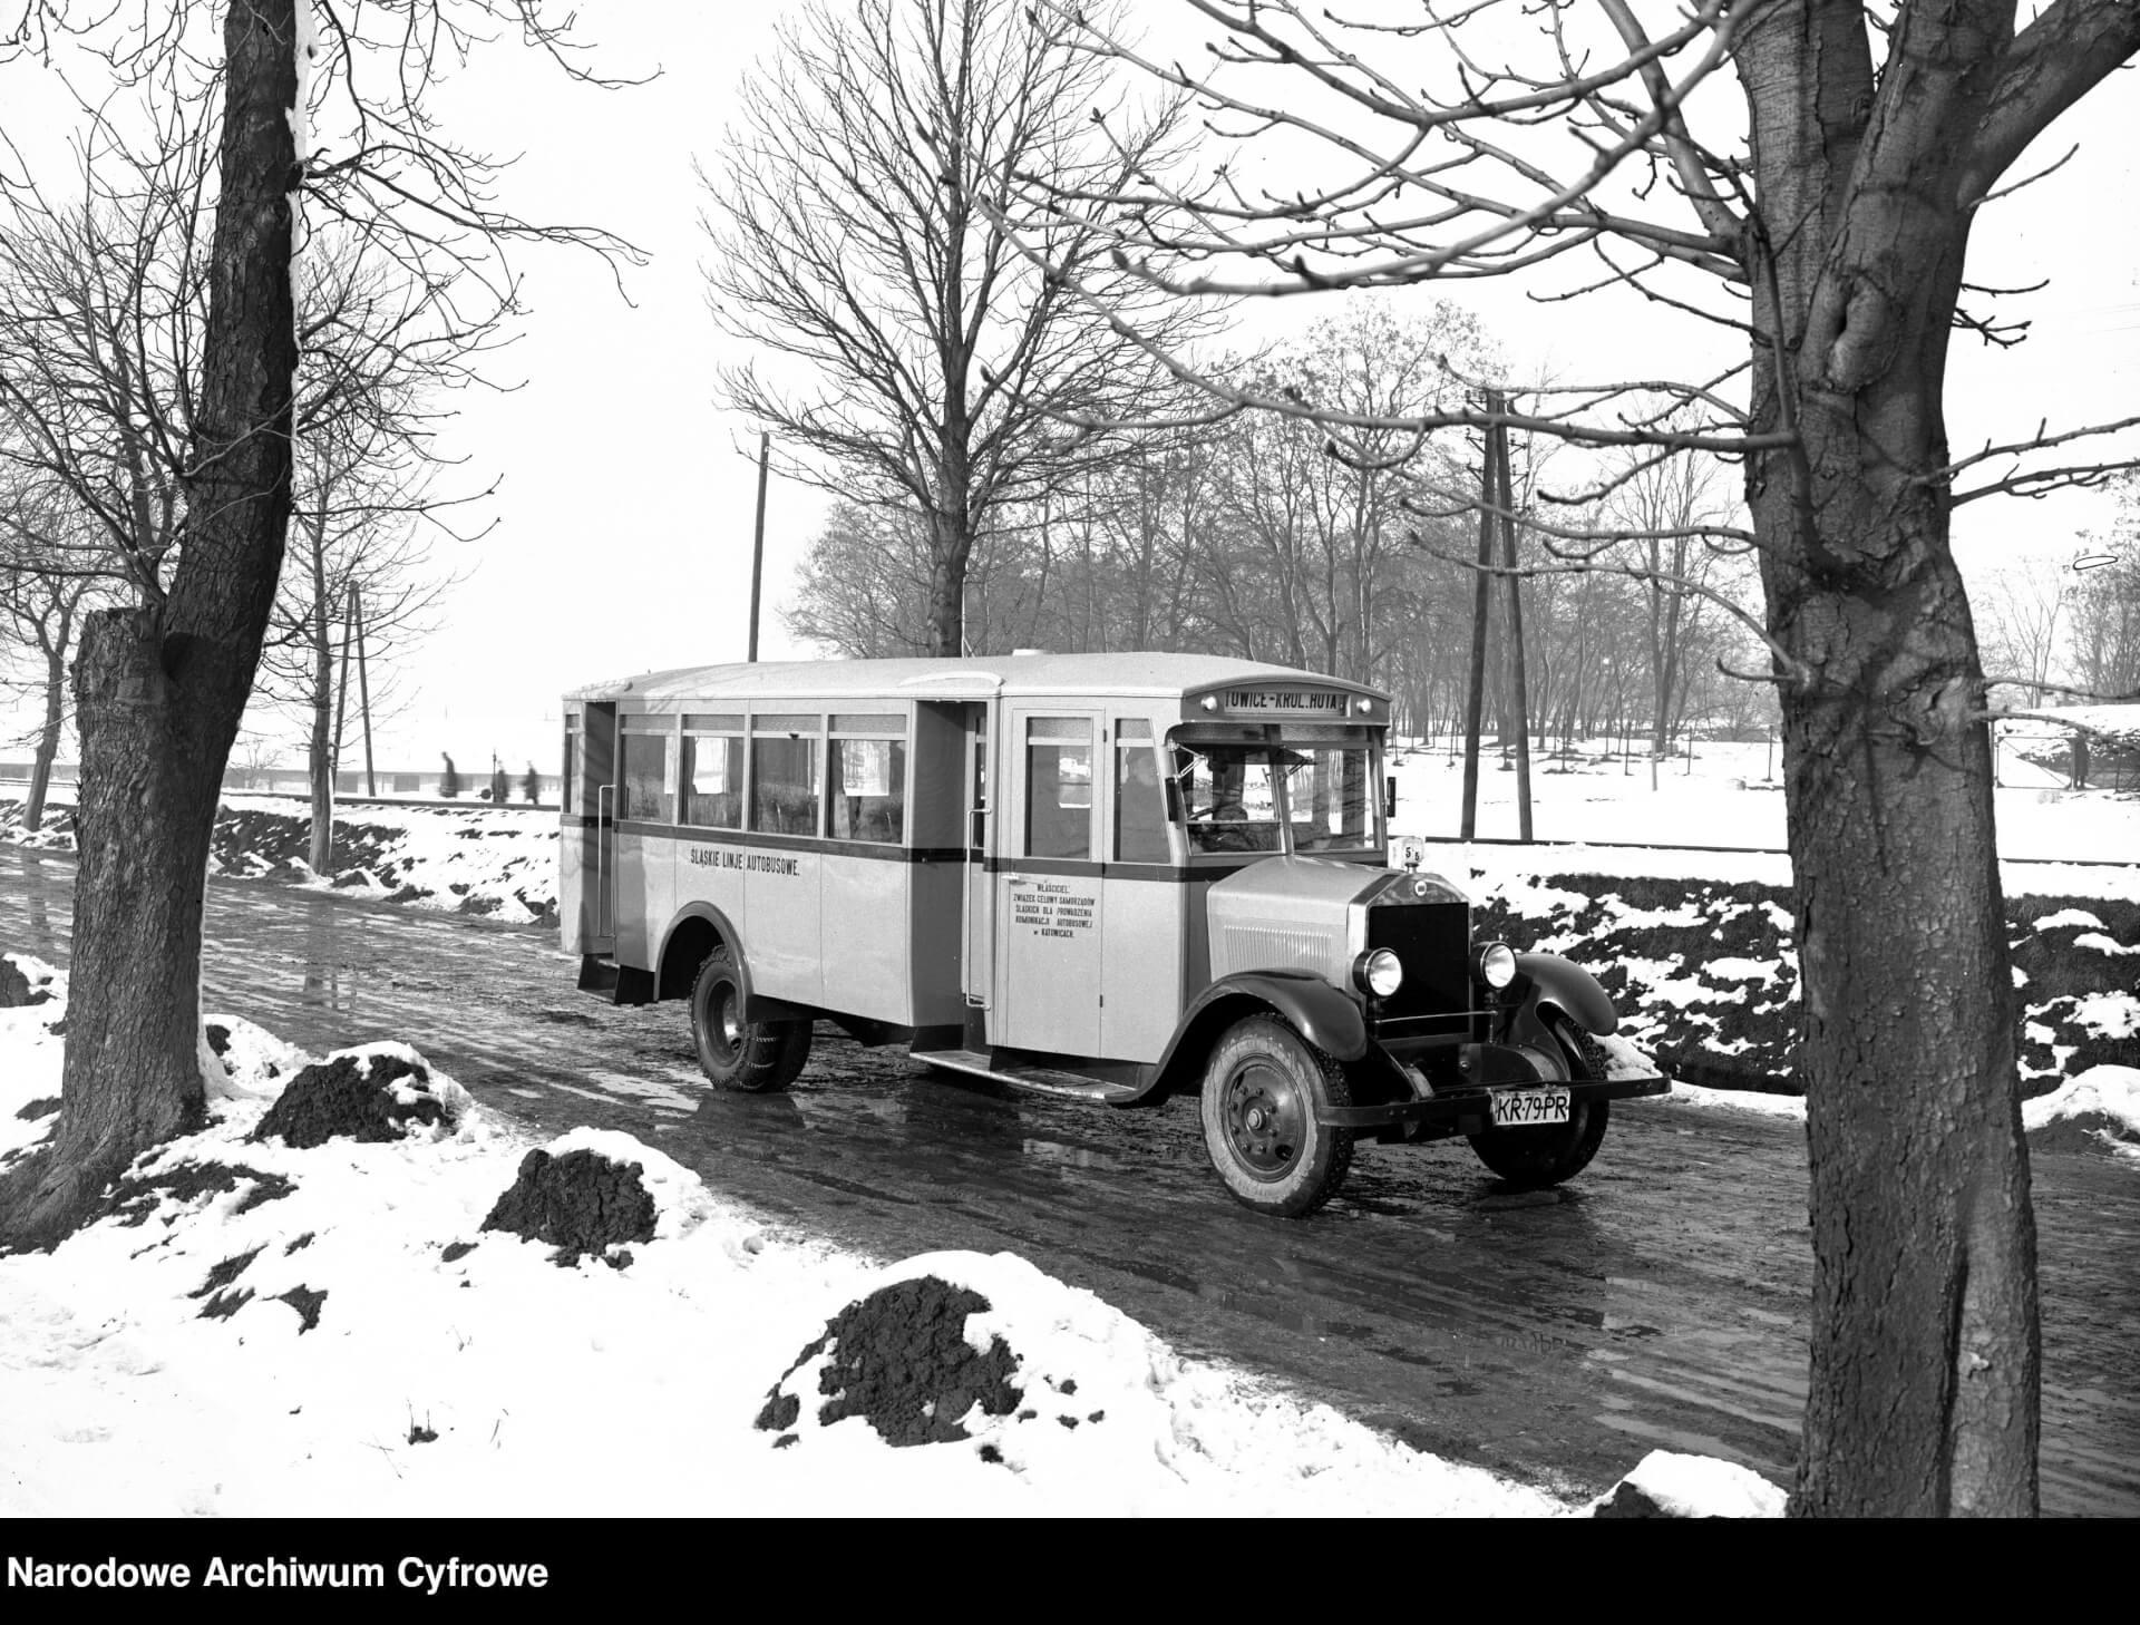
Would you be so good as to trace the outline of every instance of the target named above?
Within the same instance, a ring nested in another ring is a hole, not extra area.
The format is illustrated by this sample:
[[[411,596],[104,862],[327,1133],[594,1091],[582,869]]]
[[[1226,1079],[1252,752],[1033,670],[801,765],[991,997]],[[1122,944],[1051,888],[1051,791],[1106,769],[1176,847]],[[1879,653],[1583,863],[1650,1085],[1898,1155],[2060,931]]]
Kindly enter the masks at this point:
[[[1530,388],[1502,417],[1596,450],[1744,460],[1751,522],[1688,529],[1755,548],[1755,629],[1783,707],[1815,1255],[1791,1505],[2035,1512],[2035,1220],[1992,839],[1994,707],[1950,520],[1977,497],[2131,462],[2129,450],[2067,460],[2074,441],[2131,420],[2044,432],[2031,415],[2009,445],[1956,456],[1943,388],[1954,332],[2012,338],[1977,304],[1990,293],[1965,287],[1982,208],[2140,49],[2140,6],[2054,0],[2016,28],[2012,0],[1701,0],[1652,34],[1626,0],[1466,6],[1464,32],[1432,13],[1190,4],[1226,30],[1216,71],[1145,66],[1213,118],[1295,146],[1284,180],[1260,186],[1248,161],[1228,163],[1226,195],[1201,199],[1205,238],[1164,244],[1207,265],[1153,272],[1158,285],[1243,295],[1522,272],[1605,313],[1641,293],[1736,336],[1738,360],[1714,370]],[[1738,124],[1712,94],[1725,73]],[[1051,201],[1124,221],[1126,253],[1143,206],[1181,203],[1164,188]],[[1594,263],[1566,270],[1584,253]],[[1213,413],[1391,426],[1224,381],[1211,392]],[[1658,394],[1691,420],[1641,405]],[[1566,559],[1549,569],[1603,567],[1601,540],[1639,540],[1534,531]]]

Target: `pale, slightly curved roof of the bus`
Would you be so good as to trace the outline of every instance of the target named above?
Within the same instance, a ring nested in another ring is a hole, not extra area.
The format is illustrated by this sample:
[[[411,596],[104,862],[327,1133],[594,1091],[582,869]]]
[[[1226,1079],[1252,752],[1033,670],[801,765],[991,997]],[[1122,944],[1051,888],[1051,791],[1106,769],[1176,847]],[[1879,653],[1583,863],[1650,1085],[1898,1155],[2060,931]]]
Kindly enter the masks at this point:
[[[1295,666],[1265,666],[1224,655],[978,655],[972,659],[785,659],[732,666],[678,666],[612,683],[588,683],[567,700],[982,700],[993,696],[1119,694],[1183,696],[1222,683],[1314,683],[1389,700],[1382,689]]]

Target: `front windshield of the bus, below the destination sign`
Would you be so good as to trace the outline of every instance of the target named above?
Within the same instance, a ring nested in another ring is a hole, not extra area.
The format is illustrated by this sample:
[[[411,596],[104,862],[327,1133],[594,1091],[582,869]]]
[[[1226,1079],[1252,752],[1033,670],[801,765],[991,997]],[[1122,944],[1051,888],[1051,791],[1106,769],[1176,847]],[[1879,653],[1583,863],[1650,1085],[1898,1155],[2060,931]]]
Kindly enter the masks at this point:
[[[1190,852],[1340,852],[1374,841],[1363,743],[1175,745]]]

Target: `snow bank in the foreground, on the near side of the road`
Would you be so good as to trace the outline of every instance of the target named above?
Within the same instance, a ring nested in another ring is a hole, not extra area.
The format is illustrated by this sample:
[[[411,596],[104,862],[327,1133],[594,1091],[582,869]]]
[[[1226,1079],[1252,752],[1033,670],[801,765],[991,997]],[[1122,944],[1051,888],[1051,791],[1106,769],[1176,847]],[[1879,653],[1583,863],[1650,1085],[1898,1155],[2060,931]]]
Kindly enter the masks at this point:
[[[64,978],[17,963],[56,998],[0,1008],[0,1156],[49,1128],[60,1088]],[[766,1225],[638,1139],[537,1148],[434,1070],[394,1085],[443,1113],[400,1137],[255,1141],[306,1058],[210,1019],[229,1066],[214,1122],[143,1158],[120,1212],[0,1259],[0,1516],[1534,1518],[1626,1501],[1444,1462],[1183,1360],[1012,1255],[867,1259]],[[422,1064],[400,1045],[347,1053],[366,1075]],[[484,1229],[531,1150],[636,1165],[651,1240],[561,1265]],[[929,1368],[957,1396],[871,1400],[901,1381],[886,1338],[912,1327],[886,1312],[813,1345],[847,1306],[922,1280],[939,1304],[963,1304]],[[832,1364],[865,1413],[820,1415]],[[901,1404],[907,1432],[963,1437],[890,1443]],[[1631,1469],[1671,1512],[1783,1509],[1729,1462]]]

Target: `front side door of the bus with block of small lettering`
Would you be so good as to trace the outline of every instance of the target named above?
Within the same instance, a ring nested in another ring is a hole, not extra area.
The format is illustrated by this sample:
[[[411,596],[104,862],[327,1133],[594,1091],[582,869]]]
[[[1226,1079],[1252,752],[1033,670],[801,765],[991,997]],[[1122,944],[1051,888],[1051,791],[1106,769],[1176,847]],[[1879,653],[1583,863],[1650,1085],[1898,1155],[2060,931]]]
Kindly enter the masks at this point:
[[[1100,1053],[1098,711],[1006,707],[989,1041]]]

